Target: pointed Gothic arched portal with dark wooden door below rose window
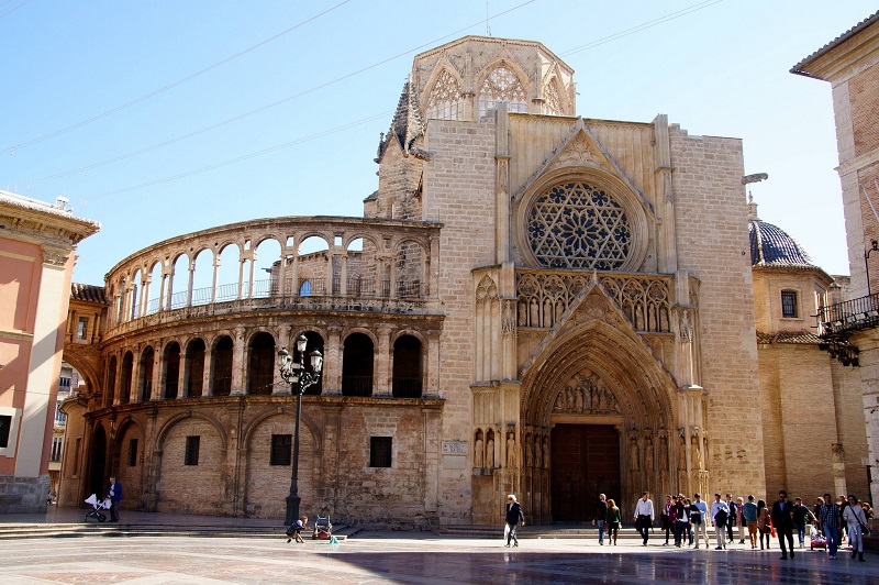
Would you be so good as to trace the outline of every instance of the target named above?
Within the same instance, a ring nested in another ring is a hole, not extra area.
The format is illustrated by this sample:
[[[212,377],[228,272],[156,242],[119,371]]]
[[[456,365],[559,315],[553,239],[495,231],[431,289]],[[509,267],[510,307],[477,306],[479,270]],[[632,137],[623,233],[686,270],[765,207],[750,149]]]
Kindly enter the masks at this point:
[[[542,523],[591,520],[600,493],[626,510],[643,490],[678,484],[675,380],[604,295],[581,307],[523,376],[525,459],[535,457],[520,478]],[[545,445],[542,461],[528,440]]]

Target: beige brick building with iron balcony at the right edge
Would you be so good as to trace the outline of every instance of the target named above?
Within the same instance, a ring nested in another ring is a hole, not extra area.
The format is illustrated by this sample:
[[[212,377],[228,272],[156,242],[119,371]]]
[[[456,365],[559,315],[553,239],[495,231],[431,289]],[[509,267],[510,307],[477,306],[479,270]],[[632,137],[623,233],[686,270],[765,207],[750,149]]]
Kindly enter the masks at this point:
[[[852,290],[821,312],[831,351],[857,360],[869,443],[864,465],[879,498],[879,12],[798,63],[791,73],[830,81],[836,118]]]

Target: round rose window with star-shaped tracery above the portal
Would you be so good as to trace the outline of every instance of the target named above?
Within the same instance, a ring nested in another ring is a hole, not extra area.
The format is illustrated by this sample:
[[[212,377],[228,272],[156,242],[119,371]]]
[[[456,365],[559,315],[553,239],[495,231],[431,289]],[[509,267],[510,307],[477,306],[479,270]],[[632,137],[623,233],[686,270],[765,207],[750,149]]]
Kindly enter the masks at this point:
[[[541,195],[527,218],[528,245],[549,268],[619,269],[632,250],[622,206],[582,181],[556,185]]]

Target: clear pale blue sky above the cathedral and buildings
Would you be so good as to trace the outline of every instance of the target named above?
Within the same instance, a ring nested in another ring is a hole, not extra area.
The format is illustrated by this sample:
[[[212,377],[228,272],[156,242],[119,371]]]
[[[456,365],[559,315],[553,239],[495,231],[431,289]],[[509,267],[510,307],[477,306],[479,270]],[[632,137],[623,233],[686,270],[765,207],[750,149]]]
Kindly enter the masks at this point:
[[[789,69],[876,11],[846,0],[0,0],[0,188],[101,231],[74,280],[214,225],[361,216],[412,57],[539,41],[577,113],[744,143],[760,219],[848,274],[831,86]],[[743,205],[744,196],[743,196]],[[268,265],[269,261],[266,261]],[[267,267],[267,266],[259,266]]]

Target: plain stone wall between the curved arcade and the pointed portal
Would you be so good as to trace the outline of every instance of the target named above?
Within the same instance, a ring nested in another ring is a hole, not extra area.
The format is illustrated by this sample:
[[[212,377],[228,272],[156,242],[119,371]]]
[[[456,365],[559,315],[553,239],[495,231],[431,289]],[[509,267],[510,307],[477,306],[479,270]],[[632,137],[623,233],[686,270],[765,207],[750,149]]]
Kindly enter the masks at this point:
[[[441,396],[446,399],[442,434],[469,443],[476,302],[470,271],[494,263],[494,123],[431,120],[425,146],[432,162],[424,168],[424,219],[444,224],[438,279],[446,313],[439,339]],[[469,454],[443,456],[439,501],[441,522],[470,522]]]

